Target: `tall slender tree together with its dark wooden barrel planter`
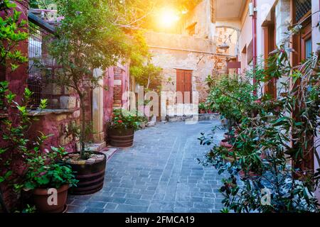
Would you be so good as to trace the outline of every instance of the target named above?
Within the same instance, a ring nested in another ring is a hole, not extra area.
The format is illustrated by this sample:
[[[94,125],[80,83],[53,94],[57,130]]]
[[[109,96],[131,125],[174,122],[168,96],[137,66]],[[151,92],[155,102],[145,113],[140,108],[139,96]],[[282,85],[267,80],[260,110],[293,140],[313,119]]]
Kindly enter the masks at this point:
[[[79,180],[78,187],[71,187],[70,193],[92,194],[103,187],[107,158],[104,153],[85,148],[86,116],[90,114],[85,101],[92,89],[102,86],[100,82],[107,68],[129,58],[132,42],[119,24],[112,23],[117,12],[110,10],[109,1],[92,4],[90,0],[58,0],[57,3],[63,20],[48,50],[61,67],[55,70],[53,82],[78,94],[81,118],[75,131],[80,150],[65,157]]]

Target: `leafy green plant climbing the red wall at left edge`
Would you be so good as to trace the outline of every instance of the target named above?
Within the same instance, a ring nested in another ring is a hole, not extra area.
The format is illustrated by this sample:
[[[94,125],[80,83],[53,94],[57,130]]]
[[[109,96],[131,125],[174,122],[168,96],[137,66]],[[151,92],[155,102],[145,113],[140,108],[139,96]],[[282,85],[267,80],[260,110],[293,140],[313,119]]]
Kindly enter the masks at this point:
[[[35,139],[28,138],[31,123],[36,121],[26,108],[31,96],[32,92],[26,88],[23,99],[18,103],[15,101],[16,94],[9,90],[9,83],[0,82],[0,108],[3,110],[0,118],[0,186],[15,194],[14,201],[20,198],[28,172],[28,159],[33,157],[34,152],[39,152],[43,141],[48,138],[42,133]],[[41,100],[39,110],[45,109],[46,104],[46,99]]]

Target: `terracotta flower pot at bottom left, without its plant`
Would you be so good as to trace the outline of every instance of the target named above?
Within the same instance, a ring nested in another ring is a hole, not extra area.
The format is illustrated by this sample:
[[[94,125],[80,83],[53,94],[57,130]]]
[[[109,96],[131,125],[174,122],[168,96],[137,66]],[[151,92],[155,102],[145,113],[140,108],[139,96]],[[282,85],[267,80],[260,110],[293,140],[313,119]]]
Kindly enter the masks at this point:
[[[36,205],[37,211],[41,213],[62,213],[65,209],[65,203],[67,201],[69,185],[65,184],[61,186],[57,192],[57,204],[49,204],[48,201],[54,201],[49,196],[53,196],[52,192],[48,192],[49,189],[34,189],[33,190],[33,202]]]

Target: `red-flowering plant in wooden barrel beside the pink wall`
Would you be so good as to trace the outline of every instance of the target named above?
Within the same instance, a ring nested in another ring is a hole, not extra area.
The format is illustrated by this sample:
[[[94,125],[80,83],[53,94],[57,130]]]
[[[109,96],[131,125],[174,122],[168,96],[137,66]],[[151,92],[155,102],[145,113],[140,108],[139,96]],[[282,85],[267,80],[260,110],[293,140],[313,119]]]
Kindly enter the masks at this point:
[[[134,131],[147,121],[146,117],[138,115],[137,112],[132,114],[124,109],[114,109],[112,119],[107,126],[110,145],[119,148],[133,145]]]

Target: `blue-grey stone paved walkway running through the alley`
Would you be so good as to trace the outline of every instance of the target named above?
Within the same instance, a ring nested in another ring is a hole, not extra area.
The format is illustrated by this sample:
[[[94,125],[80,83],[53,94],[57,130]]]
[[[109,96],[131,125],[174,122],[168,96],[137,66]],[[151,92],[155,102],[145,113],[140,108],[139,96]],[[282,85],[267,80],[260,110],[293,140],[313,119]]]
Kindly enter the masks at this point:
[[[221,176],[198,164],[208,147],[197,140],[220,121],[159,123],[137,131],[132,148],[107,162],[100,192],[69,196],[69,212],[220,212]],[[218,138],[223,132],[218,131]]]

